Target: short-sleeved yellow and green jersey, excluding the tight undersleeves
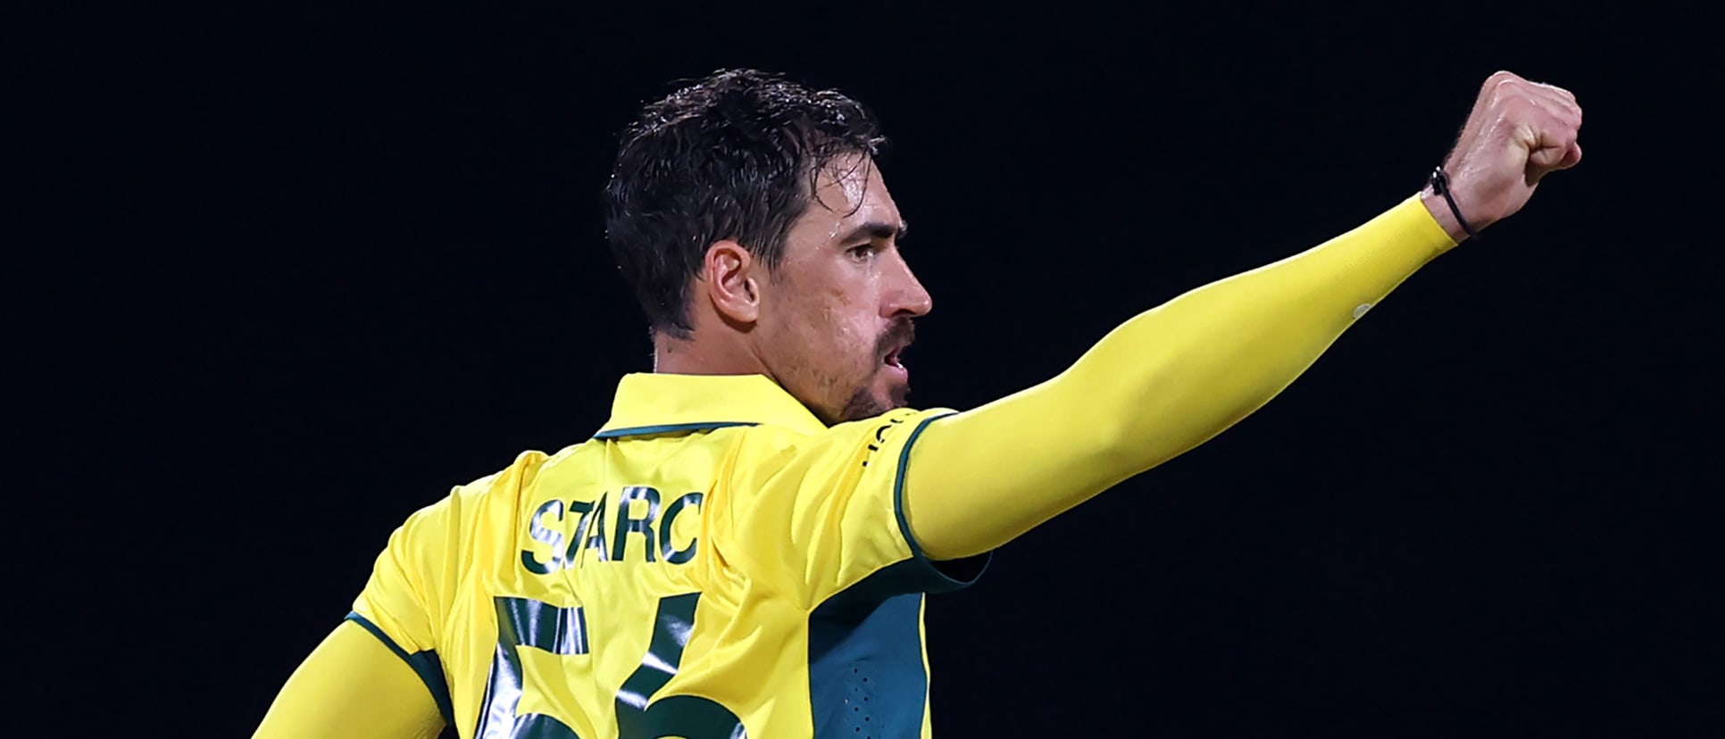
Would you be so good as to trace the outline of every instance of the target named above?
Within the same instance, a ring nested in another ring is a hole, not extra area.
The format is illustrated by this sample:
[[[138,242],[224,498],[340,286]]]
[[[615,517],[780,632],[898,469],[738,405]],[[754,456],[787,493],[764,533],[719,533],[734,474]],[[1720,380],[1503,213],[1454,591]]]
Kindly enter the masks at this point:
[[[761,376],[631,374],[611,420],[411,515],[350,620],[462,737],[930,736],[904,467],[952,413],[821,424]]]

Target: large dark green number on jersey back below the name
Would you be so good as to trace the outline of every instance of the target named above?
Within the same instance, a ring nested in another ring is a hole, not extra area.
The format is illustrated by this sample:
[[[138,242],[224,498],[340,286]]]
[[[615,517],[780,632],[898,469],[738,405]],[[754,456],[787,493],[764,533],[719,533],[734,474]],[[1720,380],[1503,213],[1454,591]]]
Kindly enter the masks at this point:
[[[618,739],[747,739],[742,720],[709,698],[669,696],[652,701],[683,661],[683,646],[695,625],[700,593],[659,599],[652,644],[618,689]],[[497,598],[497,655],[480,706],[481,739],[581,739],[568,723],[545,713],[516,713],[523,679],[518,648],[552,655],[586,655],[586,617],[580,606],[557,608],[528,598]]]

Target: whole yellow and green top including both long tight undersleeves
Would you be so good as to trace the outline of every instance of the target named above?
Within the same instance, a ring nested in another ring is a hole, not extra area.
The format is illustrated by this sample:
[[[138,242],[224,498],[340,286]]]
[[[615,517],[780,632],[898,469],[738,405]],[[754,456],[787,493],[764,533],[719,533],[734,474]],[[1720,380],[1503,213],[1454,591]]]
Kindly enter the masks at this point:
[[[1413,195],[963,413],[828,429],[764,377],[628,376],[592,441],[409,517],[257,736],[928,737],[925,593],[1268,403],[1454,245]]]

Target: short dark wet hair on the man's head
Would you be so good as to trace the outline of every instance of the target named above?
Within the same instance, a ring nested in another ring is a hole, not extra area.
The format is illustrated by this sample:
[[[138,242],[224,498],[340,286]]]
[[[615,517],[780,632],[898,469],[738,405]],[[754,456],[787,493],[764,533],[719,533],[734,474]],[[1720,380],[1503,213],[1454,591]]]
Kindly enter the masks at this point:
[[[688,336],[688,286],[714,241],[735,239],[775,269],[823,167],[883,146],[862,103],[754,69],[721,69],[649,103],[623,131],[605,238],[652,327]]]

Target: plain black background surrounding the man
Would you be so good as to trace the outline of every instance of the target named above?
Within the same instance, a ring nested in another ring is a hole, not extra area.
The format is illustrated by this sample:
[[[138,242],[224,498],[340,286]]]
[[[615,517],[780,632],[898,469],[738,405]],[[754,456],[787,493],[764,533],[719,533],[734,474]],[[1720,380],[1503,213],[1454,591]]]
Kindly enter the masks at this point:
[[[650,351],[614,134],[756,65],[883,119],[935,295],[913,401],[956,408],[1394,205],[1496,69],[1587,110],[1577,171],[1270,407],[933,599],[937,732],[1725,732],[1694,12],[0,21],[21,727],[247,736],[409,512],[595,431]]]

